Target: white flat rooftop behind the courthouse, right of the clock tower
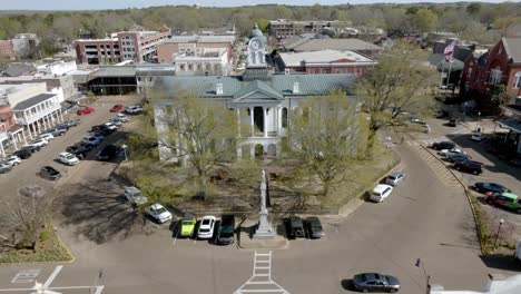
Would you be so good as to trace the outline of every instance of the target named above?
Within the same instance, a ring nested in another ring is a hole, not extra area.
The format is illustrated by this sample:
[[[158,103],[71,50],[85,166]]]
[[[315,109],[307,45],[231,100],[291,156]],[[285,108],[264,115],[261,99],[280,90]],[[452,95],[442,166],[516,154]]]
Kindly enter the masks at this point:
[[[372,59],[353,51],[320,50],[309,52],[279,53],[284,63],[288,67],[298,67],[306,63],[333,63],[333,62],[373,62]]]

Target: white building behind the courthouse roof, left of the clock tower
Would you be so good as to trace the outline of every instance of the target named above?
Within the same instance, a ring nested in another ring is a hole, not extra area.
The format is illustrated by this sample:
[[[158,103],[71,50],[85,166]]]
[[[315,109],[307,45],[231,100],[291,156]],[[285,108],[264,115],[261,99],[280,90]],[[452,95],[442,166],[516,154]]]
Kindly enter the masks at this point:
[[[174,58],[177,75],[228,76],[232,63],[225,48],[201,48],[178,53]]]

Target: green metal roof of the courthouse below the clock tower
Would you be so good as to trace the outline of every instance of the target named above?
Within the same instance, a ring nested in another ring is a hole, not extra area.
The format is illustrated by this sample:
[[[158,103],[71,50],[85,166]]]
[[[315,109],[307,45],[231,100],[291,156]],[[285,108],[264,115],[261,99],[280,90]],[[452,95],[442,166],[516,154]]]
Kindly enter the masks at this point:
[[[156,88],[164,89],[170,96],[184,90],[205,98],[234,98],[247,95],[256,89],[271,96],[322,96],[332,90],[344,90],[354,95],[355,75],[273,75],[268,79],[244,80],[242,76],[169,76],[158,77]],[[293,86],[298,82],[298,94],[293,92]],[[216,94],[217,84],[223,85],[223,95]]]

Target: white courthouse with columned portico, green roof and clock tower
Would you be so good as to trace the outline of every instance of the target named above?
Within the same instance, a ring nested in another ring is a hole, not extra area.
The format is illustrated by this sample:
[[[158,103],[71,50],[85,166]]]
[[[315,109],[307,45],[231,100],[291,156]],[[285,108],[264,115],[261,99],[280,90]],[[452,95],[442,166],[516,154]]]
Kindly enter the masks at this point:
[[[287,138],[292,110],[313,97],[326,96],[334,90],[353,94],[355,75],[273,75],[266,65],[266,38],[255,26],[247,38],[248,65],[242,76],[166,76],[158,77],[154,87],[163,89],[166,98],[155,101],[158,136],[165,130],[160,125],[161,108],[174,106],[178,94],[189,91],[197,97],[219,101],[237,114],[242,137],[237,157],[252,158],[259,150],[268,156],[279,156],[282,141]],[[243,131],[242,131],[242,130]],[[245,133],[245,134],[244,134]],[[170,158],[170,150],[159,144],[161,160]],[[258,155],[258,154],[257,154]]]

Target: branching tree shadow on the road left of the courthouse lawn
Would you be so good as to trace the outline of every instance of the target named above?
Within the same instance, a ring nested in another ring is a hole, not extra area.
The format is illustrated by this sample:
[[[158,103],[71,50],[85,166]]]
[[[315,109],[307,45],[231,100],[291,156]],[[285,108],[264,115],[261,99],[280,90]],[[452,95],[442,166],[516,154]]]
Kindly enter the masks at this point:
[[[65,225],[73,225],[77,237],[102,244],[116,236],[147,233],[147,219],[124,202],[122,189],[112,182],[72,184],[57,198]],[[139,229],[140,228],[140,229]]]

